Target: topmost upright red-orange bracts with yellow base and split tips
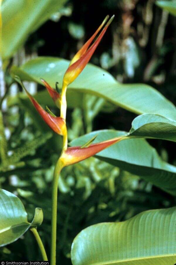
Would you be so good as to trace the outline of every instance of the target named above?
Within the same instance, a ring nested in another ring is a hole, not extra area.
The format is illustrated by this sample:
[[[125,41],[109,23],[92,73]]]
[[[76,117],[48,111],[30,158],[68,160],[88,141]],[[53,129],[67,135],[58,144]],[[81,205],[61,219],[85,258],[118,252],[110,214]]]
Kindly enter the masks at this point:
[[[100,29],[104,26],[109,16],[106,16],[104,21],[101,23],[97,31],[92,35],[92,37],[84,44],[84,46],[75,54],[73,59],[70,62],[70,65],[65,72],[64,78],[63,78],[63,84],[69,85],[72,83],[77,76],[82,72],[86,64],[91,59],[95,49],[97,48],[99,42],[101,41],[102,37],[104,36],[108,26],[111,24],[112,20],[114,19],[114,16],[111,17],[111,19],[107,22],[104,29],[99,34],[96,41],[91,45],[89,48],[90,43],[93,41],[94,37],[98,34]],[[89,49],[88,49],[89,48]]]

